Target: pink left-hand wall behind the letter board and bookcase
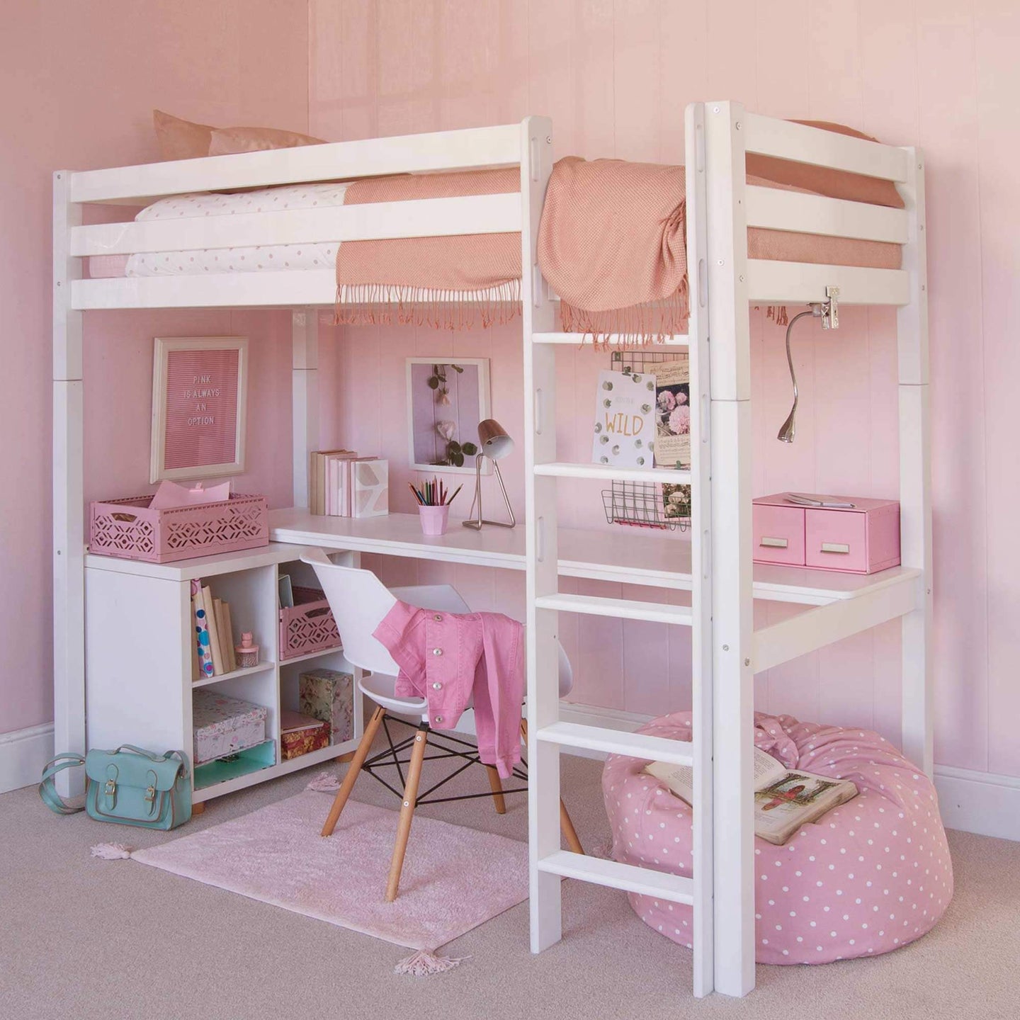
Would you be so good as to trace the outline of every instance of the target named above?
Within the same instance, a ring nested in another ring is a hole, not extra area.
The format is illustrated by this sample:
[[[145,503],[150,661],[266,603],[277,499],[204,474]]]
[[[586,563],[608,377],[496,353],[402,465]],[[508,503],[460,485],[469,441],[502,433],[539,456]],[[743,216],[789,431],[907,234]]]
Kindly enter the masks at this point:
[[[154,106],[206,123],[304,131],[307,45],[306,0],[4,4],[0,732],[53,718],[52,172],[157,159]],[[251,338],[253,470],[239,488],[290,502],[290,316],[282,312],[86,316],[87,498],[148,490],[153,337],[223,334]]]

